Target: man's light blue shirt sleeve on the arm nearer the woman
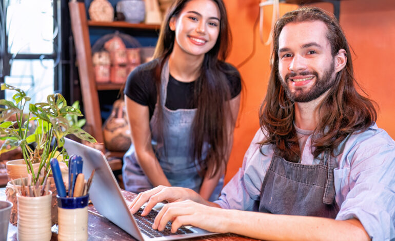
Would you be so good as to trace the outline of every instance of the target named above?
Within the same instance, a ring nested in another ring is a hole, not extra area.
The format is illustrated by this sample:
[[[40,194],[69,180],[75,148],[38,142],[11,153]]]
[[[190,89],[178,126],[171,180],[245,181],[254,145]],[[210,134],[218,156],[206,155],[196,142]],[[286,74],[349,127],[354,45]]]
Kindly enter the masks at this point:
[[[272,149],[265,145],[260,152],[258,144],[265,138],[261,130],[256,132],[244,155],[243,166],[222,189],[219,200],[215,201],[225,209],[258,211],[263,178],[269,168]]]

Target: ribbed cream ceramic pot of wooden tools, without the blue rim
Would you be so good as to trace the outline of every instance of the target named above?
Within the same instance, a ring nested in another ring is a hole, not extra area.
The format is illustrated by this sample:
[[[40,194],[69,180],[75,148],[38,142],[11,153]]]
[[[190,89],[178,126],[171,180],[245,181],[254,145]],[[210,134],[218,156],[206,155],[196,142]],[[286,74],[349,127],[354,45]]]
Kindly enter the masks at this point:
[[[19,241],[51,240],[51,199],[52,192],[44,196],[27,197],[16,194],[18,199]]]

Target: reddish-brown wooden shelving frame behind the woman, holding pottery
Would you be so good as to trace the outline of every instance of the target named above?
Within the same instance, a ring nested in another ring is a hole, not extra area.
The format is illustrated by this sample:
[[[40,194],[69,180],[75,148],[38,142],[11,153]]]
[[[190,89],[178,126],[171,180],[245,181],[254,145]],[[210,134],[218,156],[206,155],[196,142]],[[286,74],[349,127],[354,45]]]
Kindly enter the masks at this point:
[[[102,129],[102,117],[100,112],[100,103],[97,91],[103,90],[120,90],[123,84],[97,84],[94,77],[92,50],[89,38],[89,28],[111,28],[120,29],[128,28],[131,30],[157,31],[160,25],[130,24],[122,21],[114,22],[95,22],[88,21],[86,15],[85,3],[71,1],[69,2],[71,29],[74,37],[76,50],[76,61],[80,75],[80,85],[82,92],[82,101],[88,132],[96,138],[98,143],[103,143],[103,152],[109,159],[122,158],[123,152],[106,152],[104,146],[104,136]],[[121,163],[122,164],[122,163]],[[110,163],[111,168],[121,169],[120,163]]]

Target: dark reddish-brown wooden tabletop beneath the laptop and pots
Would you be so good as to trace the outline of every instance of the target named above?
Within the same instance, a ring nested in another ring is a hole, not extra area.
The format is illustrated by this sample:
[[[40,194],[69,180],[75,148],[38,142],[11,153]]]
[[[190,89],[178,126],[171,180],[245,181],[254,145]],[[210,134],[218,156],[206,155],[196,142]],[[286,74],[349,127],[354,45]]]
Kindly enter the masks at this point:
[[[123,191],[126,202],[129,204],[132,202],[136,194]],[[5,188],[0,188],[0,200],[5,200]],[[8,226],[8,241],[17,241],[16,239],[17,228],[11,224]],[[123,231],[118,226],[111,223],[107,218],[100,215],[93,205],[88,207],[88,240],[117,240],[117,241],[128,241],[136,240],[131,235]],[[211,241],[222,241],[222,240],[256,240],[244,236],[239,236],[236,234],[226,233],[226,234],[215,234],[205,237],[191,238],[188,240],[211,240]],[[52,237],[51,241],[57,241],[57,225],[52,226]]]

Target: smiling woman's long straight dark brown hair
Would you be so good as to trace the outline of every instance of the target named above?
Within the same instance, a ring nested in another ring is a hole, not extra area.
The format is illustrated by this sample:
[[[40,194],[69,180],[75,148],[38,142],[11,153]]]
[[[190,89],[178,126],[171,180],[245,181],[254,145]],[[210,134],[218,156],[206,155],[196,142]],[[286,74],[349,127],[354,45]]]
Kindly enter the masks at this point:
[[[170,19],[178,16],[183,10],[186,3],[192,0],[176,0],[169,8],[166,17],[162,23],[161,32],[155,48],[154,58],[159,60],[159,65],[155,70],[156,91],[158,94],[157,102],[161,102],[161,71],[166,59],[173,51],[175,33],[169,27]],[[193,120],[191,130],[191,157],[196,160],[195,165],[204,176],[206,172],[210,176],[218,173],[221,167],[226,166],[228,153],[228,128],[227,121],[233,120],[229,109],[230,87],[226,74],[234,74],[224,69],[225,61],[231,44],[231,33],[228,25],[225,5],[222,0],[211,0],[219,8],[221,14],[220,33],[214,47],[208,51],[203,60],[201,75],[195,83],[194,101],[197,104],[197,111]],[[161,106],[161,105],[159,105]],[[163,119],[161,109],[158,110],[158,128],[160,135],[163,133],[163,125],[166,120]],[[203,151],[208,145],[206,155]]]

